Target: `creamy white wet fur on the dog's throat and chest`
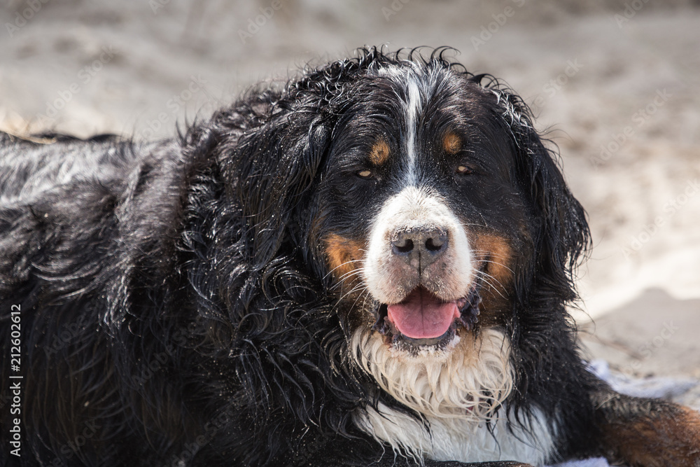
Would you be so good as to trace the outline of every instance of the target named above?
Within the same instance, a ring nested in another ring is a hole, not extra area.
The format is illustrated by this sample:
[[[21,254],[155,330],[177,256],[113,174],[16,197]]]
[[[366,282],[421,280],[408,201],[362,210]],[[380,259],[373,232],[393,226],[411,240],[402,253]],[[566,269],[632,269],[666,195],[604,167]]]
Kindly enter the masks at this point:
[[[456,340],[439,354],[407,356],[389,349],[376,333],[353,338],[358,363],[396,400],[423,414],[415,417],[380,404],[354,414],[358,427],[398,452],[440,461],[513,460],[541,465],[554,449],[554,436],[535,412],[526,429],[489,412],[512,391],[510,345],[498,330],[484,330],[476,340]]]

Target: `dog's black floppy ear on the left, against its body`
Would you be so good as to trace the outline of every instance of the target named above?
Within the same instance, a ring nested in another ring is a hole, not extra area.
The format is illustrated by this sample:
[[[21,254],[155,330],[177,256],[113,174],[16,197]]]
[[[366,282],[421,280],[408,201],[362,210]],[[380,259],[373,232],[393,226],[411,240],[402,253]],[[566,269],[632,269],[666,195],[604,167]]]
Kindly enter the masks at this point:
[[[327,131],[314,107],[283,111],[239,140],[234,192],[255,265],[269,264],[278,256],[290,238],[290,215],[309,195],[321,167]]]

